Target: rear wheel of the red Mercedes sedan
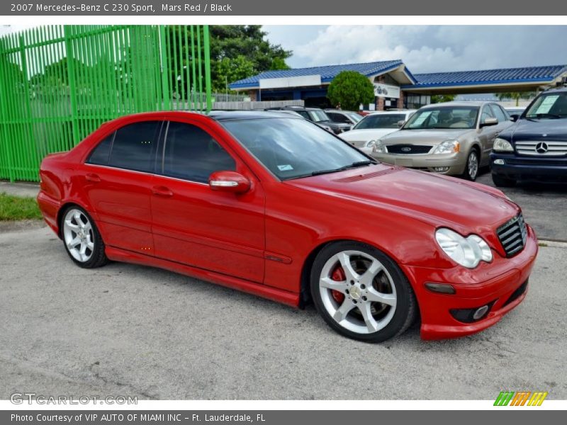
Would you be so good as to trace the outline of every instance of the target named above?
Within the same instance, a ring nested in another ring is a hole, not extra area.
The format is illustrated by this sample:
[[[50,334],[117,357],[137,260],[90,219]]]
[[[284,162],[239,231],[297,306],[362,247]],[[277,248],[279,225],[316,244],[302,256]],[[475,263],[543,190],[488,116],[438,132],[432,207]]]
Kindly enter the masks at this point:
[[[61,215],[61,236],[65,251],[82,268],[104,266],[104,242],[92,217],[83,208],[70,205]]]

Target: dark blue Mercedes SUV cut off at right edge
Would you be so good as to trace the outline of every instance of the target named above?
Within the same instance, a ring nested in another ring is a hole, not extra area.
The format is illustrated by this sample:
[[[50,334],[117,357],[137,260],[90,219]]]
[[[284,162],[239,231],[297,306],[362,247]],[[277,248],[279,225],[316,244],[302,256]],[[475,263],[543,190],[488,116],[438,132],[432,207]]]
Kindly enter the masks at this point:
[[[520,180],[567,182],[567,87],[537,96],[500,133],[490,161],[496,186]]]

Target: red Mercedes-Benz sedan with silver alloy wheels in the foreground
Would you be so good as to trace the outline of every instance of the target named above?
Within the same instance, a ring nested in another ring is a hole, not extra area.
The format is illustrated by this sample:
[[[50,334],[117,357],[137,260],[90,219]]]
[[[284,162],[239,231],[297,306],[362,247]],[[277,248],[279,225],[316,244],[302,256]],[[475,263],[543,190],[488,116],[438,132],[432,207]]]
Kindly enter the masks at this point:
[[[302,118],[143,113],[43,160],[38,203],[84,268],[167,268],[362,341],[481,331],[524,299],[534,230],[495,188],[379,164]]]

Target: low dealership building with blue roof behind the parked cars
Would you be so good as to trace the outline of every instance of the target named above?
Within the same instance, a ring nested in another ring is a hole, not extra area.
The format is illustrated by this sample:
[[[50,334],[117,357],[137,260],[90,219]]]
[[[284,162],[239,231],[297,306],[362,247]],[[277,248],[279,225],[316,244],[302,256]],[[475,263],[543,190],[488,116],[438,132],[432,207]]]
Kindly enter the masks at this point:
[[[374,84],[376,101],[369,108],[379,111],[419,108],[435,94],[542,91],[567,81],[567,65],[412,74],[402,60],[388,60],[267,71],[234,81],[230,89],[246,92],[253,101],[303,99],[306,106],[329,107],[327,87],[347,70]]]

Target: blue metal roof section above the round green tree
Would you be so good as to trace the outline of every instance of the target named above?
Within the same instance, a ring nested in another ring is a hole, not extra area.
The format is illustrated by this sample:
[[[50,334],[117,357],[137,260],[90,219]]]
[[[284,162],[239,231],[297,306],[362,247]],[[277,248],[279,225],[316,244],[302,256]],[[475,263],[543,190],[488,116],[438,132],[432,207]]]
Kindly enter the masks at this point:
[[[264,78],[289,78],[289,77],[305,77],[306,75],[320,75],[322,83],[329,83],[337,77],[337,74],[342,71],[357,71],[366,77],[371,75],[383,74],[384,72],[391,71],[402,65],[401,60],[387,60],[383,62],[369,62],[363,64],[342,64],[342,65],[327,65],[325,67],[310,67],[310,68],[296,68],[284,69],[279,71],[266,71],[261,74],[254,75],[235,81],[229,85],[230,89],[254,89],[259,86],[259,80]],[[406,68],[405,73],[412,81],[416,81],[410,71]]]

